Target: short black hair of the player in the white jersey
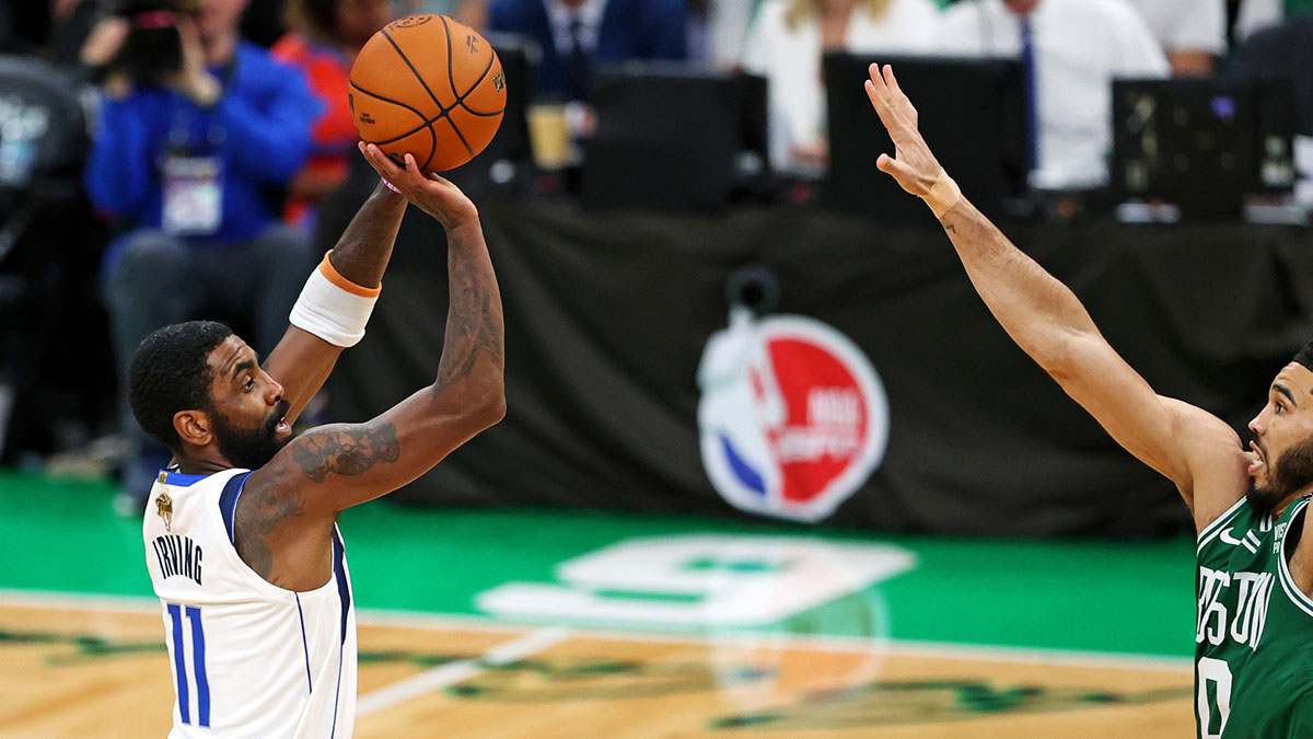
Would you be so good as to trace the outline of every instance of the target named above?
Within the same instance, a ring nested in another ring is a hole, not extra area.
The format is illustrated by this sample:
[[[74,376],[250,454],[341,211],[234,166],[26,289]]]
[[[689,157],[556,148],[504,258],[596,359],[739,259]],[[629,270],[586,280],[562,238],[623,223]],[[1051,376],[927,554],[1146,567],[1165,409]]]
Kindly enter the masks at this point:
[[[173,454],[183,439],[173,429],[179,410],[211,410],[213,372],[206,359],[232,329],[214,321],[188,321],[164,326],[146,337],[127,368],[127,404],[133,417]]]

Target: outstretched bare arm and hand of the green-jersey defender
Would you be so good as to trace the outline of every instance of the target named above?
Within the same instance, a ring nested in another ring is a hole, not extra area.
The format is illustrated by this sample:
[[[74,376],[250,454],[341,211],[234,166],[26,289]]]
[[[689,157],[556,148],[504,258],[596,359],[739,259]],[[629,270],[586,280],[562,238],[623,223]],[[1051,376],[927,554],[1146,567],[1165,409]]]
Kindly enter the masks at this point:
[[[1108,345],[1075,295],[1016,249],[951,180],[916,129],[916,110],[893,70],[872,64],[867,93],[895,156],[877,167],[926,197],[985,305],[1007,334],[1137,459],[1171,480],[1197,529],[1233,505],[1247,485],[1247,455],[1216,416],[1157,394]],[[947,176],[945,176],[947,178]]]

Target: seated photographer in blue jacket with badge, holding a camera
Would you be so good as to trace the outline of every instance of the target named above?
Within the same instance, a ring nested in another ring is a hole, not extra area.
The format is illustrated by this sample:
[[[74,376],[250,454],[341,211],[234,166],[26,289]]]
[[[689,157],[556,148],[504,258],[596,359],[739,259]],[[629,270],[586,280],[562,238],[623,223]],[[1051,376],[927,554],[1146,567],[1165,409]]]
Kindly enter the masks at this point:
[[[269,351],[314,260],[280,213],[320,105],[298,70],[239,38],[247,3],[129,0],[83,49],[106,67],[85,184],[125,231],[101,272],[119,377],[147,334],[202,309],[248,322]],[[144,505],[160,459],[125,431],[143,451],[121,483]]]

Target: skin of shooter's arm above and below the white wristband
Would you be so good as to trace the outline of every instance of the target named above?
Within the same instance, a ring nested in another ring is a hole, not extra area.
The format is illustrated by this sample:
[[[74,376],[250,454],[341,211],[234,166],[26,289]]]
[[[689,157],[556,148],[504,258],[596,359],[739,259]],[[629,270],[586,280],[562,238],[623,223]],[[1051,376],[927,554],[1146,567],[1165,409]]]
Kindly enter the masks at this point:
[[[360,206],[334,247],[330,262],[339,275],[366,288],[377,288],[393,255],[397,229],[406,214],[406,199],[382,183]],[[282,383],[290,405],[288,422],[295,421],[332,372],[340,346],[334,346],[297,326],[288,326],[278,346],[264,363],[265,372]]]

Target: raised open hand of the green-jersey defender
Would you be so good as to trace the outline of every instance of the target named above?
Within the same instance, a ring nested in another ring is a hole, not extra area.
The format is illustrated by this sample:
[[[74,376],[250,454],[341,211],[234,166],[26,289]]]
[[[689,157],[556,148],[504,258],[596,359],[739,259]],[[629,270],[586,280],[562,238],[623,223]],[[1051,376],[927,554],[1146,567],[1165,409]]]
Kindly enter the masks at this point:
[[[898,87],[893,67],[885,64],[881,70],[880,64],[871,64],[869,71],[867,97],[894,142],[894,155],[881,154],[876,167],[898,180],[907,192],[926,197],[943,168],[916,130],[916,109]]]

